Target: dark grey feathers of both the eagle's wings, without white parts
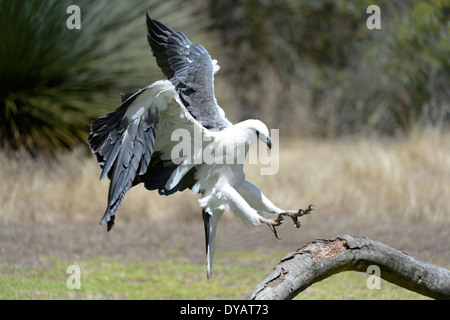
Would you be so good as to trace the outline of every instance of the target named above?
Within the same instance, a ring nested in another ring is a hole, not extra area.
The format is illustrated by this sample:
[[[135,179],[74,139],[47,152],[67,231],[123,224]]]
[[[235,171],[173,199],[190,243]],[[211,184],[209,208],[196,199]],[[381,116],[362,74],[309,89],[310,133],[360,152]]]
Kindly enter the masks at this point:
[[[184,107],[207,129],[221,130],[230,126],[214,97],[215,65],[206,49],[193,45],[184,34],[172,31],[148,15],[147,26],[148,42],[158,66],[175,87]],[[111,180],[108,204],[101,221],[101,224],[108,223],[108,231],[125,194],[134,185],[143,182],[147,189],[170,195],[191,188],[195,183],[194,167],[171,190],[165,188],[178,166],[163,161],[159,152],[154,153],[159,110],[152,105],[146,107],[144,114],[130,114],[143,110],[139,107],[142,99],[138,104],[133,105],[133,102],[152,86],[121,94],[122,105],[91,125],[88,143],[103,169],[100,178],[107,176]],[[136,109],[127,113],[134,106]]]

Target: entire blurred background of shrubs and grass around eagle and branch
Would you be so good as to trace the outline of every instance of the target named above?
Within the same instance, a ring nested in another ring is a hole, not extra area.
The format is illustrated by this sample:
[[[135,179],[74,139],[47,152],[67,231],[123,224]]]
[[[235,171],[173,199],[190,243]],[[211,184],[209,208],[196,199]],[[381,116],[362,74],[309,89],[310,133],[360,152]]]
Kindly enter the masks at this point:
[[[373,4],[381,30],[366,27]],[[81,30],[66,27],[70,5]],[[207,282],[190,192],[133,188],[114,236],[97,226],[109,183],[97,181],[90,124],[164,77],[146,11],[218,59],[230,120],[280,129],[278,174],[246,176],[274,203],[320,214],[301,232],[286,225],[283,241],[224,215]],[[449,0],[0,0],[0,298],[239,298],[281,252],[344,233],[448,267],[449,15]],[[77,293],[65,286],[73,263]],[[304,296],[409,298],[349,279]]]

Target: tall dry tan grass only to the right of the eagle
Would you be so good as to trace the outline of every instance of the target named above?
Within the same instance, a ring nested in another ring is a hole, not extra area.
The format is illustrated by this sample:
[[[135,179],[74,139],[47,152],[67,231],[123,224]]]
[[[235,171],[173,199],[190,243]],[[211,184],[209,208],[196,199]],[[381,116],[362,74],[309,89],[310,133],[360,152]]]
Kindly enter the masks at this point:
[[[257,171],[253,176],[285,207],[314,203],[321,212],[347,217],[450,222],[448,134],[425,130],[384,141],[281,141],[276,178],[258,177]]]

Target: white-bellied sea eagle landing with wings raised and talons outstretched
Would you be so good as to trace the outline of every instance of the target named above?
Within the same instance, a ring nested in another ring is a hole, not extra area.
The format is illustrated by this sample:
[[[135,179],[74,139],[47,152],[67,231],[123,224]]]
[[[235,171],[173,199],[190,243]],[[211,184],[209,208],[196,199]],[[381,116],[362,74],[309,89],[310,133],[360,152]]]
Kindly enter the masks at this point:
[[[245,180],[241,160],[257,139],[271,148],[268,128],[259,120],[234,125],[227,120],[214,97],[214,74],[219,67],[203,46],[192,44],[183,33],[172,31],[148,14],[147,28],[153,55],[168,80],[121,94],[122,105],[91,125],[88,143],[102,168],[100,180],[111,180],[100,224],[111,230],[125,194],[137,184],[144,183],[148,190],[165,196],[189,188],[202,195],[199,204],[209,278],[216,228],[225,211],[234,213],[250,228],[267,224],[277,235],[275,227],[284,216],[299,227],[297,218],[312,208],[280,209]],[[174,132],[186,138],[190,154],[173,152],[180,144],[172,138]],[[231,161],[229,152],[223,150],[233,151]],[[214,161],[205,161],[205,154]]]

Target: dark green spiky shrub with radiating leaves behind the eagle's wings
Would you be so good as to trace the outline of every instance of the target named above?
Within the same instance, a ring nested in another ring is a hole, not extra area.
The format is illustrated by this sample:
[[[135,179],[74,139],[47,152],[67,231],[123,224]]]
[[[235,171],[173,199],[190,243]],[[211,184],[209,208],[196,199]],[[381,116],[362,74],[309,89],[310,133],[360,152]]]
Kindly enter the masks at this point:
[[[117,106],[120,92],[161,78],[146,44],[146,11],[179,27],[204,25],[178,0],[75,2],[0,0],[4,150],[36,155],[84,142],[92,120]],[[81,30],[66,26],[72,4],[81,9]]]

